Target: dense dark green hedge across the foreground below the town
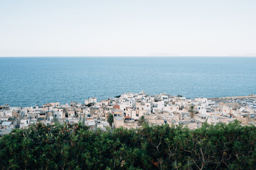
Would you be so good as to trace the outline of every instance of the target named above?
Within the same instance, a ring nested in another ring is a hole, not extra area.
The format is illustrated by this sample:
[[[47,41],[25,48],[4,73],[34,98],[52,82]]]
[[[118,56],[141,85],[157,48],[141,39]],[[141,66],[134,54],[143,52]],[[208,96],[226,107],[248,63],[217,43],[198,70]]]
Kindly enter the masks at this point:
[[[256,127],[144,125],[92,131],[35,125],[0,139],[0,169],[256,169]]]

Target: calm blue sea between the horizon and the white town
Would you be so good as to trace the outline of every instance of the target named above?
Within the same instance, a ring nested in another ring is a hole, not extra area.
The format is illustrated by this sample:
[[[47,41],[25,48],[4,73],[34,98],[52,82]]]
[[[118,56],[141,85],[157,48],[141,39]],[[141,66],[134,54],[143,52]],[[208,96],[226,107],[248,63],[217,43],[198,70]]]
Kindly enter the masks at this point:
[[[256,58],[0,58],[0,105],[84,102],[142,90],[190,98],[256,94]]]

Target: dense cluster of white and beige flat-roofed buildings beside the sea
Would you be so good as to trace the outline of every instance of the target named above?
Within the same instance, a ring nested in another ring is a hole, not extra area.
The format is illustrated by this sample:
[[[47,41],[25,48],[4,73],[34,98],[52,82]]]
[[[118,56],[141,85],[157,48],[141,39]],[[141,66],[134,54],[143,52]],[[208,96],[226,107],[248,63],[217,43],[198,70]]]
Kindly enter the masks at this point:
[[[195,115],[189,112],[194,106]],[[60,123],[78,123],[84,119],[90,128],[105,130],[110,127],[107,117],[114,117],[113,127],[138,128],[141,116],[152,125],[184,125],[190,129],[201,127],[203,122],[216,124],[229,123],[235,119],[242,125],[256,125],[256,95],[249,97],[230,97],[227,99],[207,99],[176,97],[168,94],[149,95],[124,93],[118,98],[97,101],[96,97],[84,103],[70,102],[60,104],[51,102],[35,104],[30,107],[0,106],[0,135],[9,133],[13,128],[26,128],[35,123],[53,124],[53,116]],[[193,118],[193,119],[192,119]]]

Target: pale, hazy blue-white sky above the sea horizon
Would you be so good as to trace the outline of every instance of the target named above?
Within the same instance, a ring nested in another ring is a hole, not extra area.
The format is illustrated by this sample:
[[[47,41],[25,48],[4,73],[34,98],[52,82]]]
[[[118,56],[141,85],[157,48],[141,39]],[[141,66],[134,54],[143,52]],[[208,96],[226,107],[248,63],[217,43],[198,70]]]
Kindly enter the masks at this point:
[[[0,0],[13,56],[256,56],[256,0]]]

